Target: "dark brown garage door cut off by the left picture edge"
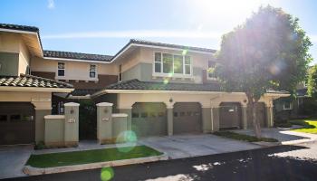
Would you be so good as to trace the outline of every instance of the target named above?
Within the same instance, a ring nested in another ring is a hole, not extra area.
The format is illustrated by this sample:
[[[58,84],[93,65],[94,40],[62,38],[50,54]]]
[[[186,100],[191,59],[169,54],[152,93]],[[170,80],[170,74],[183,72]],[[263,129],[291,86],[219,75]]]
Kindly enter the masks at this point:
[[[30,102],[0,102],[0,145],[32,144],[35,110]]]

